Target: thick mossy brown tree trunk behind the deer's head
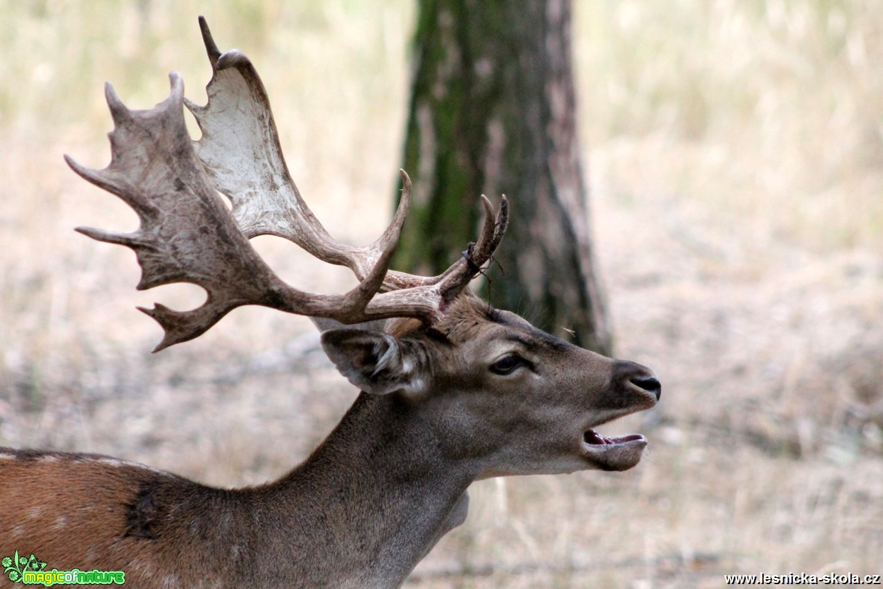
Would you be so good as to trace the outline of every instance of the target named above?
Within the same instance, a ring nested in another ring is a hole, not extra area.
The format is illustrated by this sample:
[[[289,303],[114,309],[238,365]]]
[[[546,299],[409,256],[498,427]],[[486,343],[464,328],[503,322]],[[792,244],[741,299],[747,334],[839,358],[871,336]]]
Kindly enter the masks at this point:
[[[479,193],[506,194],[491,303],[609,352],[570,48],[570,0],[420,0],[404,153],[413,204],[393,267],[447,268],[475,238]]]

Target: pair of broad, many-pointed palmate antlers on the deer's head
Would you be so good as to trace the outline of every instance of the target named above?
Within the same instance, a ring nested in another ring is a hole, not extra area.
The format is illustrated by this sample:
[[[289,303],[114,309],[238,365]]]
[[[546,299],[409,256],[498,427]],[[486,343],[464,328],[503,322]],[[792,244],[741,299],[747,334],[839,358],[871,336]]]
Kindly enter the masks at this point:
[[[155,351],[200,336],[243,305],[346,324],[392,317],[437,321],[500,244],[509,219],[505,197],[494,215],[482,196],[486,217],[478,242],[441,275],[389,271],[410,204],[407,174],[402,171],[404,188],[393,222],[374,244],[353,247],[331,238],[291,180],[267,92],[253,64],[237,50],[222,54],[202,17],[200,28],[213,69],[206,106],[184,98],[184,82],[176,72],[170,74],[169,97],[149,110],[126,108],[107,85],[114,120],[109,166],[90,170],[65,155],[81,177],[116,194],[139,215],[140,228],[132,233],[77,229],[131,247],[142,268],[139,290],[188,282],[208,292],[206,302],[191,311],[160,304],[141,309],[165,330]],[[199,141],[187,133],[185,103],[202,130]],[[232,211],[219,192],[230,199]],[[248,241],[267,234],[351,268],[361,282],[342,295],[291,287]]]

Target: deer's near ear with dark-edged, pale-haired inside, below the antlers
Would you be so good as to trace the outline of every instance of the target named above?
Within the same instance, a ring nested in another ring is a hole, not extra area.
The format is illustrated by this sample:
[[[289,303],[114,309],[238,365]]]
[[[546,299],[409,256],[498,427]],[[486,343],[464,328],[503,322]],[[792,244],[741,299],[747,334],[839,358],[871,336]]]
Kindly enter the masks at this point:
[[[413,395],[426,389],[426,378],[411,346],[380,331],[330,329],[322,349],[351,383],[372,395],[396,391]]]

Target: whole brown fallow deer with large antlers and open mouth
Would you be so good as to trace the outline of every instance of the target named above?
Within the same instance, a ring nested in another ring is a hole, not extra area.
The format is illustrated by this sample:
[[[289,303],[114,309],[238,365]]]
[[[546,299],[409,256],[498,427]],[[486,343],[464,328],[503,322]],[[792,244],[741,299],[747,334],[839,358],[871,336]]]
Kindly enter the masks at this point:
[[[222,54],[201,18],[200,27],[213,69],[206,106],[184,98],[174,72],[154,109],[126,108],[108,85],[109,166],[66,158],[132,206],[140,228],[78,230],[131,247],[139,289],[188,282],[208,292],[191,311],[142,309],[164,329],[157,350],[200,336],[237,306],[268,306],[333,325],[322,347],[362,392],[303,464],[260,487],[207,487],[111,457],[0,449],[0,555],[121,570],[127,586],[143,589],[398,587],[464,521],[472,481],[638,464],[643,435],[593,428],[653,407],[653,373],[550,336],[467,289],[500,244],[505,198],[495,213],[482,200],[477,243],[439,276],[388,269],[409,206],[404,172],[381,238],[337,242],[291,180],[253,64],[237,50]],[[184,105],[200,140],[185,129]],[[263,234],[351,268],[358,286],[298,291],[253,250],[249,239]]]

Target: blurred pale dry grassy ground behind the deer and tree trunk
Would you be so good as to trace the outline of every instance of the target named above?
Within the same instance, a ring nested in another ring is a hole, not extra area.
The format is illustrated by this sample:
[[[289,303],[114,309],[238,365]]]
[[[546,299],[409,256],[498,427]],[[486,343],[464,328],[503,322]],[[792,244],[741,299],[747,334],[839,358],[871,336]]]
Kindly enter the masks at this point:
[[[725,573],[883,572],[883,11],[873,0],[576,0],[581,139],[615,353],[659,374],[630,472],[488,480],[412,588],[712,587]],[[411,1],[0,0],[0,445],[125,457],[213,485],[274,479],[356,391],[311,324],[239,309],[160,354],[132,230],[62,160],[109,162],[102,83],[133,108],[181,72],[196,17],[252,58],[291,174],[365,244],[391,216]],[[477,189],[478,190],[478,189]],[[347,273],[272,238],[279,273]],[[503,247],[506,246],[504,242]],[[509,245],[511,246],[511,245]],[[522,309],[511,309],[519,312]]]

